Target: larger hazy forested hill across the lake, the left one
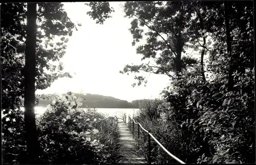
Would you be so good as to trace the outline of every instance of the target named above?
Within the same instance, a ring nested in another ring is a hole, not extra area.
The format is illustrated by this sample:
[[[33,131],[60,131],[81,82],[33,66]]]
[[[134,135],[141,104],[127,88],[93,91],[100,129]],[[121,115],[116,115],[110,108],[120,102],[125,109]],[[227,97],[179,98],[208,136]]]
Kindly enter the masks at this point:
[[[74,95],[76,97],[80,96],[83,99],[86,99],[82,101],[82,107],[87,107],[88,105],[89,108],[139,108],[137,104],[133,104],[126,100],[120,100],[111,96],[102,96],[97,94],[83,95],[78,93],[74,93]],[[47,106],[50,103],[50,101],[39,100],[38,106]]]

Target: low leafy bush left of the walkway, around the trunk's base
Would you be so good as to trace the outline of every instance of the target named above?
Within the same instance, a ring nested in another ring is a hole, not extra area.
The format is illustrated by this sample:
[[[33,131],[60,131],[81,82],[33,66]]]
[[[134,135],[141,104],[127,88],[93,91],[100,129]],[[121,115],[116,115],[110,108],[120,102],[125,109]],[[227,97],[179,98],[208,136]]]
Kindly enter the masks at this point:
[[[78,104],[79,98],[72,93],[56,96],[47,111],[37,118],[41,163],[116,163],[117,122],[113,117],[75,107]],[[3,118],[2,125],[4,163],[25,163],[24,113],[11,111]]]

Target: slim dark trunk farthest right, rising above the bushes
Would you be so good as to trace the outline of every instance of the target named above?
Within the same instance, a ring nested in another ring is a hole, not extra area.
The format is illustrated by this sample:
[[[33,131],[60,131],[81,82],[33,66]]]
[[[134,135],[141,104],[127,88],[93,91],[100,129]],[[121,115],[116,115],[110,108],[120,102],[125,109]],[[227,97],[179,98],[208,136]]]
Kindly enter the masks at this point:
[[[233,79],[233,59],[231,56],[231,39],[230,39],[230,29],[229,29],[229,15],[228,15],[228,2],[224,1],[224,12],[225,12],[225,25],[226,25],[226,42],[227,42],[227,53],[230,58],[229,62],[229,72],[228,72],[228,91],[233,89],[234,79]]]

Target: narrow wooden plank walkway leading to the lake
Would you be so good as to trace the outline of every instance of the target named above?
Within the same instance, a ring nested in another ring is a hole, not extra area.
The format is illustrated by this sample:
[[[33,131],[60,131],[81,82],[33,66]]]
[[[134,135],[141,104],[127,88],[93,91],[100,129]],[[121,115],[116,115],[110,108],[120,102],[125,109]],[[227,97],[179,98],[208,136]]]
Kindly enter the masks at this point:
[[[125,125],[121,119],[118,119],[117,125],[120,132],[120,155],[122,155],[119,163],[147,164],[144,158],[136,155],[138,146],[136,145],[136,141],[133,139],[133,134],[129,131],[129,127]]]

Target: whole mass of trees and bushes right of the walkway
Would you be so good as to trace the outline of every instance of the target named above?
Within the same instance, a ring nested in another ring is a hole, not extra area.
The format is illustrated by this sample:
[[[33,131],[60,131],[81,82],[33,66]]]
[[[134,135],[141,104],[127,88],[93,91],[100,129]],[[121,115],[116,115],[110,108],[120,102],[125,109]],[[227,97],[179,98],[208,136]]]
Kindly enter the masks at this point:
[[[121,73],[137,73],[137,85],[140,71],[172,79],[141,107],[142,125],[186,163],[255,162],[253,2],[126,2],[124,11],[137,53],[154,62]],[[152,161],[175,162],[157,146]]]

